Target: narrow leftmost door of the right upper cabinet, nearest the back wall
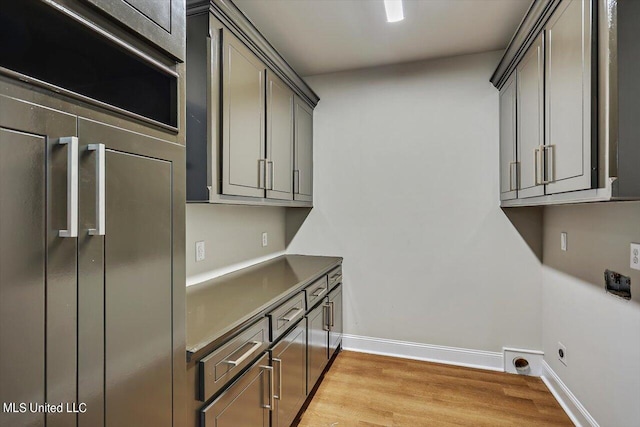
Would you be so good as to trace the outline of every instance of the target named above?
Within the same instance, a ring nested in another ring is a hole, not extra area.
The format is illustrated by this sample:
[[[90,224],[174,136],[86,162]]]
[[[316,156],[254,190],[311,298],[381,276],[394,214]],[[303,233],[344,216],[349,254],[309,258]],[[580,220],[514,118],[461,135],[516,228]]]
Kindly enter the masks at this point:
[[[500,200],[515,199],[516,182],[516,76],[500,90]]]

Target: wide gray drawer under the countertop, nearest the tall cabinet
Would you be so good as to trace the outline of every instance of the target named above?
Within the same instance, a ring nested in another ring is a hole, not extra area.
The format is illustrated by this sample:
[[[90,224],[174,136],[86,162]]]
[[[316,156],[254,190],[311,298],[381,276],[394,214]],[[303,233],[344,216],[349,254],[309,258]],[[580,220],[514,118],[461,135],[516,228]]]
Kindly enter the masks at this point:
[[[269,346],[269,319],[262,318],[199,362],[198,398],[204,402]]]

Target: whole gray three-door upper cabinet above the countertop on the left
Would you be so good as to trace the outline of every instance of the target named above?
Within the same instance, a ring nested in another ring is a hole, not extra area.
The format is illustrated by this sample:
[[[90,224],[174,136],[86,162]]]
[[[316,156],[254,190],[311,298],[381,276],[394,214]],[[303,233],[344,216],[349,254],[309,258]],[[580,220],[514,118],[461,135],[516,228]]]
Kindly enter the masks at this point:
[[[311,206],[317,95],[231,2],[190,2],[187,40],[187,200]]]

